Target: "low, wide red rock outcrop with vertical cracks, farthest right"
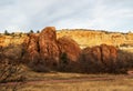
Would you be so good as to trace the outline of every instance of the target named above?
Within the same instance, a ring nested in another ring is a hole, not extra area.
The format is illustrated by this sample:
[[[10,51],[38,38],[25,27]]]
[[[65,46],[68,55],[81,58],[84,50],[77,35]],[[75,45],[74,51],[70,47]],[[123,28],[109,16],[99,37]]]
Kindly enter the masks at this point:
[[[113,46],[101,44],[93,48],[85,48],[82,51],[82,62],[86,71],[112,71],[117,61],[117,50]]]

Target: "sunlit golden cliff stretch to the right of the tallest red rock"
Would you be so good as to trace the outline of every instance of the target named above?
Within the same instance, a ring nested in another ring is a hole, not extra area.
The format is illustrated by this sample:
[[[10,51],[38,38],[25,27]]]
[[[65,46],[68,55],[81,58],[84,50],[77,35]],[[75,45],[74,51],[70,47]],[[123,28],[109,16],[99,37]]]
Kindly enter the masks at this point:
[[[104,31],[88,30],[62,30],[58,31],[58,38],[70,37],[75,40],[81,48],[100,46],[102,43],[120,47],[122,44],[133,46],[133,33],[109,33]]]

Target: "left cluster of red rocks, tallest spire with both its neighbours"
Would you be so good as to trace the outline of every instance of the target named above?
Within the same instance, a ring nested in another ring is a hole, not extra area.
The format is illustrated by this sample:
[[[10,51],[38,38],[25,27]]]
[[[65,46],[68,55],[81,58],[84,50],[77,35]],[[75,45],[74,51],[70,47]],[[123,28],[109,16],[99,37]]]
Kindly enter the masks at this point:
[[[81,52],[74,40],[65,37],[57,40],[54,27],[44,28],[39,36],[30,34],[25,42],[25,60],[41,70],[59,68],[64,52],[70,61],[76,62]]]

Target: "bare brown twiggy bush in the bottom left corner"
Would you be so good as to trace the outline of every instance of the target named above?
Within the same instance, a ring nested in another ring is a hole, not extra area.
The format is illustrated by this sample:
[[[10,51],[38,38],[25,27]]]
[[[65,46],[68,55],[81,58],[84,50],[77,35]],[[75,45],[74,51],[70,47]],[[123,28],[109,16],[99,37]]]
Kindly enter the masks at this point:
[[[24,82],[24,71],[21,64],[9,60],[0,61],[0,90],[17,91]],[[13,85],[8,84],[13,82]],[[2,85],[4,84],[4,85]]]

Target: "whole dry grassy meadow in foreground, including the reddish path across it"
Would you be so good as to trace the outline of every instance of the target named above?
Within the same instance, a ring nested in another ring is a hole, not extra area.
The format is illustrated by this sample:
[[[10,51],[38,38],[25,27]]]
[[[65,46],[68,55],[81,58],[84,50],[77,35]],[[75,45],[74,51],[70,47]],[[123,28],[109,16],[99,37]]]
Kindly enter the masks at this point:
[[[112,78],[113,80],[96,80]],[[70,81],[73,80],[74,81]],[[84,79],[81,80],[80,79]],[[94,80],[95,79],[95,80]],[[19,91],[132,91],[133,77],[127,74],[37,73],[27,72],[27,82]],[[39,81],[38,81],[39,80]],[[44,81],[40,81],[44,80]],[[68,81],[69,80],[69,81]],[[79,81],[76,81],[79,80]]]

